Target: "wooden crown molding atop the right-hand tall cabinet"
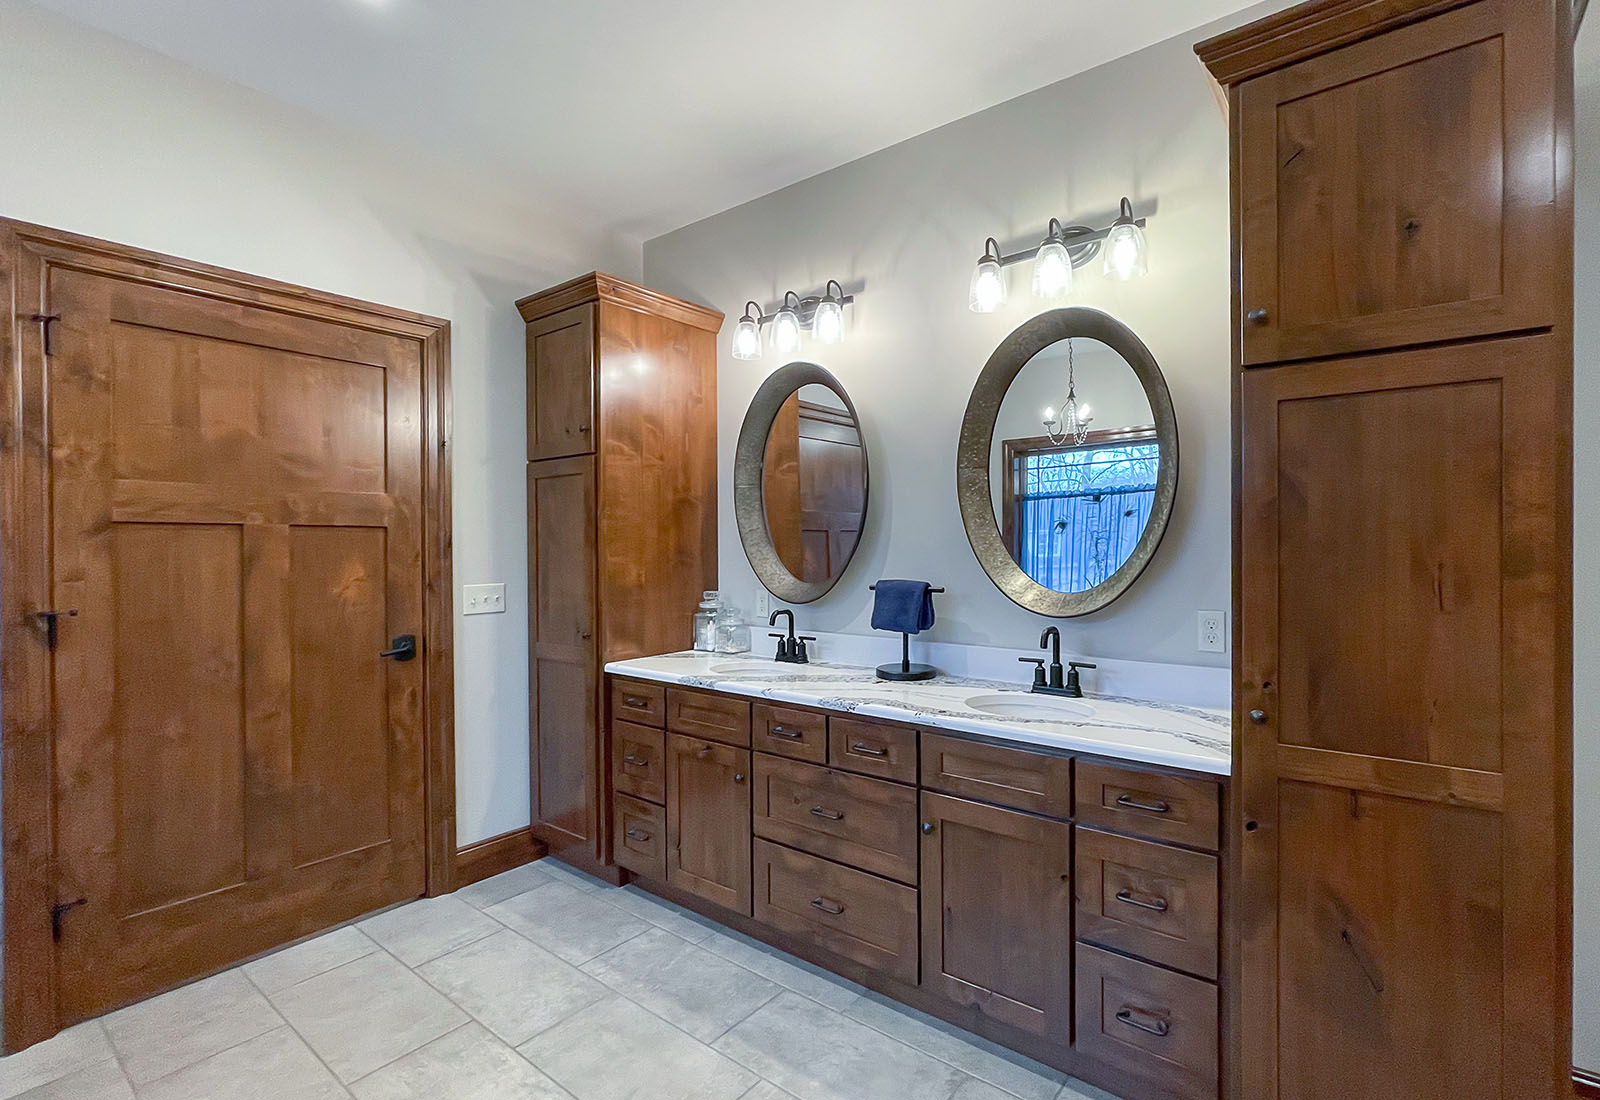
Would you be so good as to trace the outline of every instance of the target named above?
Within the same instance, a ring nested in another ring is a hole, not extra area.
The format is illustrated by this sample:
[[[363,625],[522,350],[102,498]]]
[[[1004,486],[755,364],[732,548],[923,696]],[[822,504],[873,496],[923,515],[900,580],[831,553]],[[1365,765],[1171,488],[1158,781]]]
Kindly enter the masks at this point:
[[[1461,8],[1472,0],[1309,0],[1206,38],[1195,53],[1224,85]]]

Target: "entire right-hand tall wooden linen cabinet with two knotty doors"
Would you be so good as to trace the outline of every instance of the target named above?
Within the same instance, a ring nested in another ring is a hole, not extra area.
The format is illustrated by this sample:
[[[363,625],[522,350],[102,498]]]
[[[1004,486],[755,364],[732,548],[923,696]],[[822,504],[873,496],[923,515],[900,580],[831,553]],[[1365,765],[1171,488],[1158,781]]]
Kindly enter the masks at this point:
[[[1202,43],[1235,309],[1229,1090],[1571,1097],[1571,0]]]

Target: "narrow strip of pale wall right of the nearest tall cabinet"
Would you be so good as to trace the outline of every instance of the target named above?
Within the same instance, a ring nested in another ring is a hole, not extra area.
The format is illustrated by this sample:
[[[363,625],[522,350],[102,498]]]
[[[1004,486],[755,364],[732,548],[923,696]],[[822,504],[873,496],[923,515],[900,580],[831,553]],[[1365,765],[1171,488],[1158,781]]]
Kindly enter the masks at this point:
[[[1600,1073],[1600,11],[1578,38],[1573,406],[1573,1063]]]

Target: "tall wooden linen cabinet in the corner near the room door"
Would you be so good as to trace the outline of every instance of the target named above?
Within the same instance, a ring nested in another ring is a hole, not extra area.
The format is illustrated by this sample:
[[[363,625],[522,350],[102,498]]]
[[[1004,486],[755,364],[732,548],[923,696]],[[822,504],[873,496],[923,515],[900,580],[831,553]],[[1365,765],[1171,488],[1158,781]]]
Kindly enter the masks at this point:
[[[590,273],[517,302],[528,333],[533,835],[616,881],[602,667],[690,646],[717,587],[722,313]]]

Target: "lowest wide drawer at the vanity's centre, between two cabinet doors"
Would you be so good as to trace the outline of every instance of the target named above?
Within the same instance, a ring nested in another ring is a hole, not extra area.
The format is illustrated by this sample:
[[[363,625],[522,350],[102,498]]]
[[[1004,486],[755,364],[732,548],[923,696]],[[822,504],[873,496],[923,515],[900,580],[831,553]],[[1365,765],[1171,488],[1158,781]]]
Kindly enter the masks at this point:
[[[755,919],[917,982],[917,891],[910,886],[757,839]]]

